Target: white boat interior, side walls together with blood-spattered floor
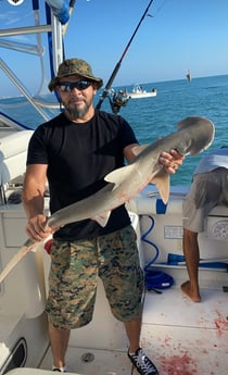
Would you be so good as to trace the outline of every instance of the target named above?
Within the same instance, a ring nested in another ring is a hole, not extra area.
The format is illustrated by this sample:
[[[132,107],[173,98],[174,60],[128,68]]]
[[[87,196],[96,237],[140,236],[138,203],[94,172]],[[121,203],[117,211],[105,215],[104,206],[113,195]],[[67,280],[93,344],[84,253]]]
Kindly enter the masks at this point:
[[[216,268],[213,263],[210,268],[200,267],[201,303],[193,303],[183,296],[180,285],[188,277],[186,265],[169,265],[166,262],[170,252],[182,254],[181,198],[172,197],[166,215],[154,213],[155,199],[156,197],[149,199],[148,195],[140,199],[140,205],[136,207],[141,214],[140,222],[132,213],[130,216],[140,239],[140,233],[147,233],[151,224],[147,210],[152,212],[155,224],[149,238],[160,248],[157,263],[153,263],[153,268],[172,275],[175,284],[160,293],[145,292],[141,345],[154,361],[160,375],[227,375],[228,293],[224,291],[224,287],[228,287],[227,268]],[[141,203],[147,204],[142,207]],[[216,223],[224,223],[226,227],[227,208],[224,210],[217,208],[216,212],[212,212],[207,221],[208,229]],[[25,223],[21,204],[2,205],[2,267],[18,251],[20,243],[24,243]],[[227,255],[226,240],[215,240],[204,234],[201,236],[201,243],[203,259]],[[140,241],[139,250],[142,265],[148,264],[154,257],[154,248]],[[0,343],[3,370],[5,361],[11,358],[11,350],[13,352],[18,339],[23,337],[28,348],[25,366],[34,367],[29,375],[36,375],[37,368],[40,370],[40,375],[50,373],[52,355],[47,337],[47,317],[43,313],[49,266],[50,257],[40,247],[37,252],[30,252],[1,286]],[[113,317],[99,279],[92,322],[72,330],[66,353],[68,370],[80,375],[137,375],[136,371],[132,373],[127,349],[128,340],[124,326]],[[21,358],[23,359],[23,355]],[[4,374],[3,371],[1,373]],[[15,371],[13,374],[16,375]],[[20,374],[24,375],[18,370]]]

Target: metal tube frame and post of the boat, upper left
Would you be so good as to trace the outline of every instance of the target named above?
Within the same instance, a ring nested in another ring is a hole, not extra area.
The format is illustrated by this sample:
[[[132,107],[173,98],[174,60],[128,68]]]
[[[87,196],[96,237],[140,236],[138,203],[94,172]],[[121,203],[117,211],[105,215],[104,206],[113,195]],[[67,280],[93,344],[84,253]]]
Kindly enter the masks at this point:
[[[15,68],[10,68],[9,64],[3,60],[0,59],[0,68],[2,72],[8,76],[14,87],[21,92],[21,95],[26,98],[28,103],[35,109],[35,111],[45,120],[50,120],[49,113],[46,112],[46,109],[56,109],[59,108],[59,100],[58,98],[53,97],[53,101],[45,101],[40,99],[40,93],[42,91],[47,91],[47,79],[50,79],[50,76],[53,76],[60,63],[63,61],[63,25],[59,21],[59,18],[54,15],[53,10],[51,7],[47,5],[46,9],[46,17],[48,20],[48,24],[41,24],[40,22],[40,10],[34,10],[34,23],[35,25],[30,25],[27,27],[14,27],[14,28],[7,28],[0,30],[0,47],[4,49],[10,49],[13,51],[18,51],[27,54],[33,54],[39,59],[40,62],[40,83],[35,95],[30,93],[28,87],[26,87],[17,77],[15,73]],[[64,28],[66,29],[66,27]],[[28,35],[36,35],[37,42],[34,43],[24,43],[20,41],[10,40],[11,37],[15,36],[28,36]],[[41,34],[48,34],[49,38],[47,38],[48,43],[43,46],[43,40],[41,38]],[[46,63],[49,60],[50,72],[46,72]]]

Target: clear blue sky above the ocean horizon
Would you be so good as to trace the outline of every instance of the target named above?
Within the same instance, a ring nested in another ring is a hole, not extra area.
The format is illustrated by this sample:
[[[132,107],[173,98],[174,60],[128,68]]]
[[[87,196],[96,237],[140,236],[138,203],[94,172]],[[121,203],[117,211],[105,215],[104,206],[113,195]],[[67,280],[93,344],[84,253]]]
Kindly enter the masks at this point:
[[[88,61],[104,85],[121,61],[113,86],[185,79],[188,70],[192,77],[228,74],[228,0],[153,0],[123,55],[149,2],[76,0],[64,38],[65,57]],[[16,20],[26,26],[29,3],[24,0],[14,7],[0,0],[0,29],[15,27]],[[27,38],[10,40],[27,42]],[[0,47],[0,58],[31,90],[37,89],[34,57],[22,58]],[[0,97],[14,93],[1,71],[0,82]]]

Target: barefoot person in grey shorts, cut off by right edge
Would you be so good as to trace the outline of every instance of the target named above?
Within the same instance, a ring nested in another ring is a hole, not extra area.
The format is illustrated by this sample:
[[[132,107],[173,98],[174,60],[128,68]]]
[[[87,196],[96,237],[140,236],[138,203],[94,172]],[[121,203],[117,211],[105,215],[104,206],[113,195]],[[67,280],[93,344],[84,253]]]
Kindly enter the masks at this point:
[[[201,301],[198,234],[204,230],[204,218],[208,212],[219,203],[228,204],[228,147],[214,150],[201,159],[183,201],[182,247],[189,280],[181,285],[181,289],[193,302]]]

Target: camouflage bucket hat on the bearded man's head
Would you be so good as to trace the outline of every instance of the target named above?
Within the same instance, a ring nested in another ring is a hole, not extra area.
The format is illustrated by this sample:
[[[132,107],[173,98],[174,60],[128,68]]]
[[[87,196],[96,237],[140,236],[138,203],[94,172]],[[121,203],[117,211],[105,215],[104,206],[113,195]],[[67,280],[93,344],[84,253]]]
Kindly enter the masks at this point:
[[[59,84],[59,78],[67,77],[69,75],[80,75],[84,78],[88,78],[97,83],[97,88],[101,88],[103,80],[94,77],[92,74],[91,66],[84,60],[80,59],[68,59],[60,64],[58,74],[53,77],[48,85],[49,90],[53,91]]]

